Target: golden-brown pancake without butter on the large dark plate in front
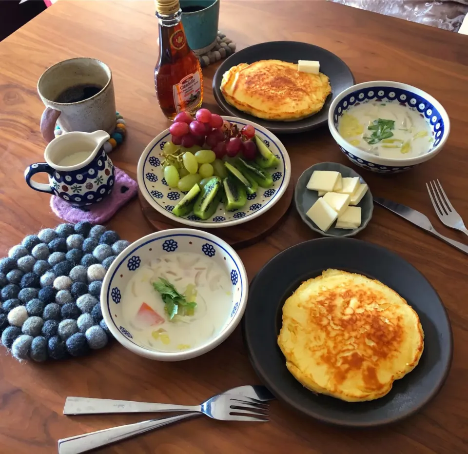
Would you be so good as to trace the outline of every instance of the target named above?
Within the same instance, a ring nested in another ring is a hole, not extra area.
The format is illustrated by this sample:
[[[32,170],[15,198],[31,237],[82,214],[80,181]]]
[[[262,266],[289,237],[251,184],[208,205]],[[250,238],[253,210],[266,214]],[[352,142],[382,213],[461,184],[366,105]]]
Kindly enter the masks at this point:
[[[377,280],[326,270],[283,306],[278,345],[309,390],[349,402],[378,399],[411,372],[424,348],[416,312]]]

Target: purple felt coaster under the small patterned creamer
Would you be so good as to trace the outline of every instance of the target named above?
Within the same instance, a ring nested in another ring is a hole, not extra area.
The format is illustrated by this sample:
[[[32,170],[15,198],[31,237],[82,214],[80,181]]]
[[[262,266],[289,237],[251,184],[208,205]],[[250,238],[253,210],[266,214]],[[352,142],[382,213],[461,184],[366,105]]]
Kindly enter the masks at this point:
[[[50,198],[50,207],[52,211],[61,219],[77,223],[79,221],[88,221],[92,224],[103,224],[108,221],[117,210],[125,205],[138,192],[138,184],[130,178],[123,170],[116,169],[116,180],[112,193],[102,202],[84,206],[81,208],[70,205],[70,203],[59,197]]]

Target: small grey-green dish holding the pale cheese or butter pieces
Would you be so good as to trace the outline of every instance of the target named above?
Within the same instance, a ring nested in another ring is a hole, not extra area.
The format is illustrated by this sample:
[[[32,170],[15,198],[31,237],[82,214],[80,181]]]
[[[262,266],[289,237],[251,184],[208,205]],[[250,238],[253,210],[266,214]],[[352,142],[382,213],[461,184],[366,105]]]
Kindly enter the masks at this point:
[[[354,170],[346,167],[345,165],[338,164],[337,162],[320,162],[318,164],[314,164],[312,167],[306,169],[299,177],[296,183],[296,189],[294,191],[294,204],[302,220],[313,231],[323,235],[324,237],[353,237],[357,233],[361,232],[361,230],[364,230],[369,223],[370,218],[372,217],[372,211],[374,209],[370,188],[367,190],[364,197],[362,197],[361,201],[357,204],[357,206],[361,207],[361,225],[357,229],[336,229],[332,225],[326,232],[323,232],[317,227],[312,219],[306,215],[311,206],[319,198],[317,191],[307,189],[307,183],[309,182],[309,179],[311,178],[312,172],[314,170],[331,170],[339,172],[342,177],[359,177],[361,183],[365,183],[364,179],[358,173],[354,172]]]

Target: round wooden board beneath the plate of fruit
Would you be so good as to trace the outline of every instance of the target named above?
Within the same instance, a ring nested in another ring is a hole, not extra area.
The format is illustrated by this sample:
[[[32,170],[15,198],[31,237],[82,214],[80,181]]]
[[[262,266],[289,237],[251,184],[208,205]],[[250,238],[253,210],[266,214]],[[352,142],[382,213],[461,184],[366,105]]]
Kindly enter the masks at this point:
[[[294,182],[291,178],[289,185],[278,202],[265,214],[260,217],[256,217],[249,222],[244,224],[235,225],[233,227],[220,227],[218,229],[202,229],[210,232],[224,241],[229,243],[234,248],[240,249],[251,244],[256,243],[262,238],[270,234],[277,226],[279,226],[281,220],[288,212],[291,206],[292,195],[294,194]],[[174,222],[172,219],[163,216],[158,213],[143,197],[140,191],[138,191],[138,200],[140,202],[141,211],[143,216],[146,217],[150,225],[155,230],[165,230],[176,228],[191,228],[184,224]],[[201,226],[202,224],[200,224]]]

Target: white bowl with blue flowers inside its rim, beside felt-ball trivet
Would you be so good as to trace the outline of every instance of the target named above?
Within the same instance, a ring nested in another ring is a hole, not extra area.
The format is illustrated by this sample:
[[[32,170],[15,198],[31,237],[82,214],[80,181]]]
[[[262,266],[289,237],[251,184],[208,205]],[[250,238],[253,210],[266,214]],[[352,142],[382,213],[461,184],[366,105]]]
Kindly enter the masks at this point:
[[[221,330],[202,345],[180,352],[162,352],[140,344],[133,328],[122,316],[124,292],[131,277],[144,264],[164,254],[192,252],[212,260],[232,283],[232,299]],[[195,229],[171,229],[152,233],[130,244],[113,261],[101,287],[101,310],[112,335],[137,355],[159,361],[181,361],[203,355],[223,342],[239,323],[247,304],[249,282],[240,257],[222,239]]]

